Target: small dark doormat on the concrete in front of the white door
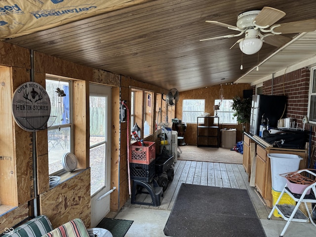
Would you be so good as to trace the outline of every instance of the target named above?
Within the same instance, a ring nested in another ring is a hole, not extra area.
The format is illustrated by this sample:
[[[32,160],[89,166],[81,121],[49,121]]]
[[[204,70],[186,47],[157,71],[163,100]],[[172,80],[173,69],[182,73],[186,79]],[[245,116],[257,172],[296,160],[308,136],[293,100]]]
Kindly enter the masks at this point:
[[[124,237],[132,224],[133,221],[129,220],[103,218],[97,227],[107,229],[113,237]]]

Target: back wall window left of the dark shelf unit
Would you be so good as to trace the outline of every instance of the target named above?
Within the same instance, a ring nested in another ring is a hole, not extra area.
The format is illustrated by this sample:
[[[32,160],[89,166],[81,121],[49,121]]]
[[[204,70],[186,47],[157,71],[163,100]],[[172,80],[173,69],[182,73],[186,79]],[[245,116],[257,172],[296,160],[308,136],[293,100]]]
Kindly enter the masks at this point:
[[[182,122],[197,123],[197,117],[204,114],[204,111],[205,111],[204,99],[183,100]]]

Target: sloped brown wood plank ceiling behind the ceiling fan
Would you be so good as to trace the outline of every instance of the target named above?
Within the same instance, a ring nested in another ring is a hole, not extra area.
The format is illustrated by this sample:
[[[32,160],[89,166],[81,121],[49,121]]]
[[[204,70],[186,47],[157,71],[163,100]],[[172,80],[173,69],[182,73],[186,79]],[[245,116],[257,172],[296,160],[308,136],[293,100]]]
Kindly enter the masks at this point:
[[[316,1],[311,0],[149,0],[5,41],[166,89],[185,91],[236,82],[276,52],[278,48],[267,43],[254,55],[242,55],[238,45],[230,49],[243,36],[199,41],[236,33],[205,20],[235,26],[239,13],[264,6],[286,13],[277,23],[315,18]],[[258,80],[256,75],[253,77],[240,82]]]

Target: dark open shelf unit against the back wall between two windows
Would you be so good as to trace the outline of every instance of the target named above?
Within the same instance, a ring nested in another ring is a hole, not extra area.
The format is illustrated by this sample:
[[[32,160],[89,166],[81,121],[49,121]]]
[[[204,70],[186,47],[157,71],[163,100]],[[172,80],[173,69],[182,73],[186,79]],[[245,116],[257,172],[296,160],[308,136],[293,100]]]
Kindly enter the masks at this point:
[[[197,146],[219,147],[219,117],[197,117]]]

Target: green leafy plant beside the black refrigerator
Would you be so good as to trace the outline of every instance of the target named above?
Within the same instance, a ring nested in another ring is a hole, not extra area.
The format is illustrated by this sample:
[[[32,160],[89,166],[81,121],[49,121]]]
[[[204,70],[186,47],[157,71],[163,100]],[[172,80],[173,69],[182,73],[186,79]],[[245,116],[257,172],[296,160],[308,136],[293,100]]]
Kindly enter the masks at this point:
[[[236,111],[233,117],[237,117],[238,123],[241,123],[242,131],[245,131],[246,125],[250,123],[251,101],[252,98],[233,98],[232,108]]]

